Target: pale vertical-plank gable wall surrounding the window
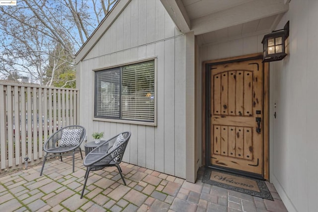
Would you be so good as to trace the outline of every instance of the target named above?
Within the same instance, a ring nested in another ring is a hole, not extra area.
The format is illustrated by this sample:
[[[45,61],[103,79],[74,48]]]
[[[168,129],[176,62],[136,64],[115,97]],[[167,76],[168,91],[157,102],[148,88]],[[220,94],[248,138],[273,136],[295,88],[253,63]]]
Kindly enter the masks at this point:
[[[123,161],[186,178],[186,143],[194,137],[194,122],[185,118],[194,111],[191,105],[186,108],[187,98],[194,96],[186,88],[186,81],[194,81],[194,73],[186,76],[186,41],[159,0],[131,0],[78,65],[80,124],[88,141],[97,131],[105,139],[131,131]],[[92,70],[152,57],[158,59],[157,126],[94,121]]]

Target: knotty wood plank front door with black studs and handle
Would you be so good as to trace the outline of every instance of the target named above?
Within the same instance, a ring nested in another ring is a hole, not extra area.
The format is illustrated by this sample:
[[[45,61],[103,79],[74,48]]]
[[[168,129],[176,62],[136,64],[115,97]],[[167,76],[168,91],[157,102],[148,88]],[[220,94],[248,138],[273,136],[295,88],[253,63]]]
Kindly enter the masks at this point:
[[[262,67],[261,60],[212,65],[212,166],[263,175]]]

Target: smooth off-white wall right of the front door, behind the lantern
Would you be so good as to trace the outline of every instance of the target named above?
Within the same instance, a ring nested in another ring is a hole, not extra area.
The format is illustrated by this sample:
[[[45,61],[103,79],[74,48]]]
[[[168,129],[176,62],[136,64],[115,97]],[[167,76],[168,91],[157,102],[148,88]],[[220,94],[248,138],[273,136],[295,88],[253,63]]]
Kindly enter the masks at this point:
[[[270,180],[290,212],[318,209],[317,11],[317,0],[289,3],[277,29],[290,21],[290,54],[270,63]]]

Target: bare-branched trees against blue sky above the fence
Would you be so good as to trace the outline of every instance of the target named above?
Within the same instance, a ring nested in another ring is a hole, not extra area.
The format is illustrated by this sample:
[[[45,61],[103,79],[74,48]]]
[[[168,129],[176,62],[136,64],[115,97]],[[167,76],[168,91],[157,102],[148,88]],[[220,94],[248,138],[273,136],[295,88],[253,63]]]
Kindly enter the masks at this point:
[[[21,0],[0,7],[0,73],[24,72],[54,85],[57,70],[68,64],[75,71],[76,52],[116,1]]]

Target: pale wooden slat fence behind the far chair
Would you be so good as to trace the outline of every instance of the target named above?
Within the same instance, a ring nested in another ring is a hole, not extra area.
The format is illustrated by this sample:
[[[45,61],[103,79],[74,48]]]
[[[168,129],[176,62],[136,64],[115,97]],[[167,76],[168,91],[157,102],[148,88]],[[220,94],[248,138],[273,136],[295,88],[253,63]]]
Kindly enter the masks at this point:
[[[0,82],[0,172],[40,162],[43,143],[76,125],[79,90]]]

